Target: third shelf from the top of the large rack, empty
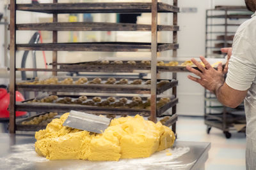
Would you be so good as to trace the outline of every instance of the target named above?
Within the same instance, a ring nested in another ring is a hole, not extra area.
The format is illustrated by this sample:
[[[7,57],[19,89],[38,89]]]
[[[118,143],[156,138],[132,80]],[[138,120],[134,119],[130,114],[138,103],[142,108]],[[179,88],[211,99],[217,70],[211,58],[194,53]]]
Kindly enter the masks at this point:
[[[17,50],[86,51],[86,52],[150,52],[151,43],[96,42],[96,43],[43,43],[17,44]],[[157,52],[176,50],[175,43],[158,43]]]

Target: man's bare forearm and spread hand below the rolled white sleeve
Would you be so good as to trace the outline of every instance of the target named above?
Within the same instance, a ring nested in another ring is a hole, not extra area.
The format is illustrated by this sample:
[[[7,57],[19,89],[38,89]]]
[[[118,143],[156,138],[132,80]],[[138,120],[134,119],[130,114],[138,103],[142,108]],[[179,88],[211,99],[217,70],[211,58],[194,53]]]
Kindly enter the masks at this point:
[[[247,90],[240,91],[229,87],[224,80],[223,69],[221,64],[218,66],[218,70],[214,69],[204,57],[200,57],[202,62],[204,62],[205,67],[202,66],[195,59],[191,61],[200,69],[200,71],[193,69],[190,66],[186,68],[192,73],[196,74],[200,78],[194,76],[188,76],[190,80],[200,83],[205,89],[213,92],[218,100],[225,106],[230,108],[236,108],[243,101],[247,94]]]

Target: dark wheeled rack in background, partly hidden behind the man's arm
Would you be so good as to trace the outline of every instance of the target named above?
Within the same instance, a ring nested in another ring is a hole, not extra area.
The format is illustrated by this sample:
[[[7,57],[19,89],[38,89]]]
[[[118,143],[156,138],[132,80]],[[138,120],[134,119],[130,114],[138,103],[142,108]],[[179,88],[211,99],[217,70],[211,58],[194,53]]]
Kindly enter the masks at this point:
[[[216,14],[217,13],[217,14]],[[212,57],[210,50],[218,50],[221,56],[220,48],[231,47],[234,38],[234,28],[237,28],[244,22],[244,19],[251,18],[253,13],[246,9],[246,6],[216,6],[215,9],[206,10],[206,31],[205,31],[205,57]],[[220,20],[222,21],[220,23]],[[232,20],[232,22],[231,22]],[[217,22],[216,22],[217,21]],[[222,31],[216,28],[222,28]],[[233,30],[230,31],[230,28]],[[211,43],[211,45],[210,45]],[[213,43],[218,43],[213,46]],[[221,45],[221,46],[218,46]],[[223,106],[218,102],[216,96],[205,90],[205,125],[207,133],[211,127],[221,129],[226,138],[231,138],[230,130],[236,130],[237,124],[246,124],[243,104],[235,109]],[[239,132],[245,132],[245,127]]]

